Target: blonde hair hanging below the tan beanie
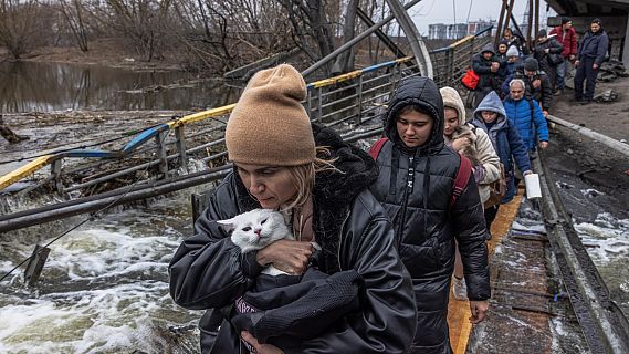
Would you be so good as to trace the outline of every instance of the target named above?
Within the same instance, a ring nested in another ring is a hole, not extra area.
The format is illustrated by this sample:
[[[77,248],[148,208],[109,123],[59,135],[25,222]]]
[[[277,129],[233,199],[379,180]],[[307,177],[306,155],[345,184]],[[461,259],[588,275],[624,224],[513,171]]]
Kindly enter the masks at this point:
[[[289,174],[293,184],[297,188],[297,195],[294,200],[286,207],[290,210],[295,207],[302,207],[313,194],[315,178],[317,173],[322,171],[340,171],[334,166],[334,163],[338,158],[329,158],[329,148],[327,146],[316,147],[316,157],[312,163],[298,165],[298,166],[287,166]]]

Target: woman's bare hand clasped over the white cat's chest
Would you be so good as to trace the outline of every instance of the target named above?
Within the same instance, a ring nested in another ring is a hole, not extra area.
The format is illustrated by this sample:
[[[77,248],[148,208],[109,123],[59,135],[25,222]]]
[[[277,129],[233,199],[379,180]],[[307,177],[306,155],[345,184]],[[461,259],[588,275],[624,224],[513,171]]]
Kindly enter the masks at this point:
[[[258,251],[255,260],[262,266],[273,267],[289,274],[302,274],[315,249],[312,242],[279,240]]]

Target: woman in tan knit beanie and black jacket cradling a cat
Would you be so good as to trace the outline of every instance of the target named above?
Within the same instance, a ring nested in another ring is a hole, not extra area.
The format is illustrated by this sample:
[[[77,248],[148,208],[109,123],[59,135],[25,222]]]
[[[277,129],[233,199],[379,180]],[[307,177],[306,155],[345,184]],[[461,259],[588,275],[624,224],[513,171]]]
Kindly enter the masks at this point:
[[[222,325],[210,321],[210,311],[201,319],[203,353],[247,352],[241,339],[258,353],[405,353],[415,334],[410,278],[391,225],[367,189],[378,168],[334,131],[311,124],[301,104],[305,96],[302,75],[286,64],[251,79],[226,129],[234,171],[216,188],[196,235],[170,262],[176,303],[228,309],[221,311]],[[216,220],[261,207],[284,212],[297,240],[241,254]],[[311,241],[322,251],[314,252]],[[263,344],[239,333],[229,309],[268,264],[290,274],[304,273],[308,264],[327,274],[353,270],[363,284],[360,310],[314,339],[304,333],[283,347],[279,343],[285,341]]]

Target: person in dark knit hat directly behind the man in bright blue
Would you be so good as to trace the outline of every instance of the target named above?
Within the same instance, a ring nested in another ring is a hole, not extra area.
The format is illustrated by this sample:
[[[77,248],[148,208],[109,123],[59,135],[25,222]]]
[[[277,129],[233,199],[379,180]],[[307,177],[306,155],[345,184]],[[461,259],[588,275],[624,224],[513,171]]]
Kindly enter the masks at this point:
[[[510,93],[510,83],[513,79],[524,81],[526,98],[537,101],[546,117],[553,101],[553,87],[548,75],[539,70],[537,60],[535,58],[525,59],[522,65],[515,67],[513,75],[506,77],[502,84],[502,93],[505,96]]]

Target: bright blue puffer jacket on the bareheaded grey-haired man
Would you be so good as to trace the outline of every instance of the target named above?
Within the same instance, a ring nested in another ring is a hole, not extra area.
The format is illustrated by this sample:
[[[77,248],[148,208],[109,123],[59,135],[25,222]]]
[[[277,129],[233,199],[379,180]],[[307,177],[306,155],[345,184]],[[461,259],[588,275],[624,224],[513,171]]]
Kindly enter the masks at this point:
[[[535,132],[539,142],[548,142],[548,125],[535,100],[520,101],[507,96],[504,102],[506,117],[517,127],[517,133],[530,150],[535,150]]]

